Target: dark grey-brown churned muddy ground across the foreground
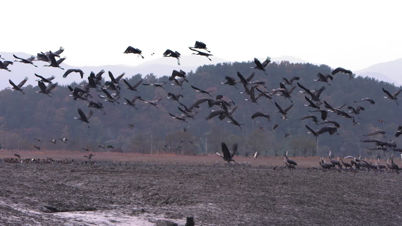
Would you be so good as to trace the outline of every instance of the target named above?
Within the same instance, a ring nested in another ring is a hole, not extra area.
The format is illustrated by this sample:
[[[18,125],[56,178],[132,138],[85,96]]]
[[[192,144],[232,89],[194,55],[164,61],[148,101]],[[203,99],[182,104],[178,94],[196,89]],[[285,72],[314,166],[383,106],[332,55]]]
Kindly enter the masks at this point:
[[[373,172],[3,162],[0,225],[180,225],[186,216],[208,226],[400,225],[401,181]]]

